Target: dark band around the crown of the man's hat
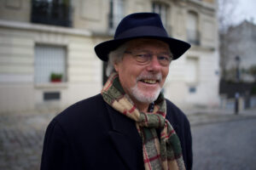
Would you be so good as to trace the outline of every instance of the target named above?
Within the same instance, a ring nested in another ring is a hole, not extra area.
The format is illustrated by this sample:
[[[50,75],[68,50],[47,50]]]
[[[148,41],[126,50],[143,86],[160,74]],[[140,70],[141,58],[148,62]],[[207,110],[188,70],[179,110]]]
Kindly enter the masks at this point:
[[[131,37],[168,37],[166,30],[157,26],[138,26],[127,31],[123,31],[119,35],[115,35],[114,39],[131,38]]]

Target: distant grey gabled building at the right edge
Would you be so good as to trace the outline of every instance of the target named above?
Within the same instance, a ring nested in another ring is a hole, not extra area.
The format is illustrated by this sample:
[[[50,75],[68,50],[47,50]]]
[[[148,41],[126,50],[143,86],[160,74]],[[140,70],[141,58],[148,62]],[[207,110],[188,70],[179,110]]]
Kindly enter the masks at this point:
[[[255,76],[248,70],[256,66],[256,25],[253,21],[244,20],[238,26],[229,29],[229,41],[227,42],[227,80],[236,82],[254,82]],[[237,62],[237,57],[239,60]],[[239,70],[239,77],[236,71]]]

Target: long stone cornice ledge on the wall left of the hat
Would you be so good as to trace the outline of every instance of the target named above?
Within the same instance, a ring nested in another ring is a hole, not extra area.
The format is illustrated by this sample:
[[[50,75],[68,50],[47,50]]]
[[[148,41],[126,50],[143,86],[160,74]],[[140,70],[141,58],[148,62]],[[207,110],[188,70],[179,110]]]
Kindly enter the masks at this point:
[[[92,33],[87,30],[79,30],[79,29],[68,28],[68,27],[66,28],[61,26],[46,26],[46,25],[33,24],[33,23],[10,21],[10,20],[0,20],[0,27],[26,30],[26,31],[45,31],[45,32],[51,32],[51,33],[62,33],[62,34],[84,36],[84,37],[92,36]]]

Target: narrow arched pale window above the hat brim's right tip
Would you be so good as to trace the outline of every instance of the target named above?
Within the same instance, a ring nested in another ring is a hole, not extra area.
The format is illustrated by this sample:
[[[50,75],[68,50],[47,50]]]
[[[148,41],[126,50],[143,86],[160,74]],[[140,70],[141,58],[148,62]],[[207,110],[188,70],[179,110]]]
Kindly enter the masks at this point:
[[[198,15],[195,12],[189,12],[187,21],[188,42],[200,45],[200,34],[198,29]]]

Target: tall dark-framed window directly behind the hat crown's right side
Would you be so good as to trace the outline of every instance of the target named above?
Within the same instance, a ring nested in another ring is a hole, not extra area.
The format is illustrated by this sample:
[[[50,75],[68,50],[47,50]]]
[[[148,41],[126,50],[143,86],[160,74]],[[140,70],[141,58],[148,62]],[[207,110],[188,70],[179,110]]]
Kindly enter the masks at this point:
[[[172,27],[168,25],[168,5],[165,3],[152,3],[152,11],[154,13],[160,14],[163,25],[166,28],[166,31],[169,35],[172,34]]]

